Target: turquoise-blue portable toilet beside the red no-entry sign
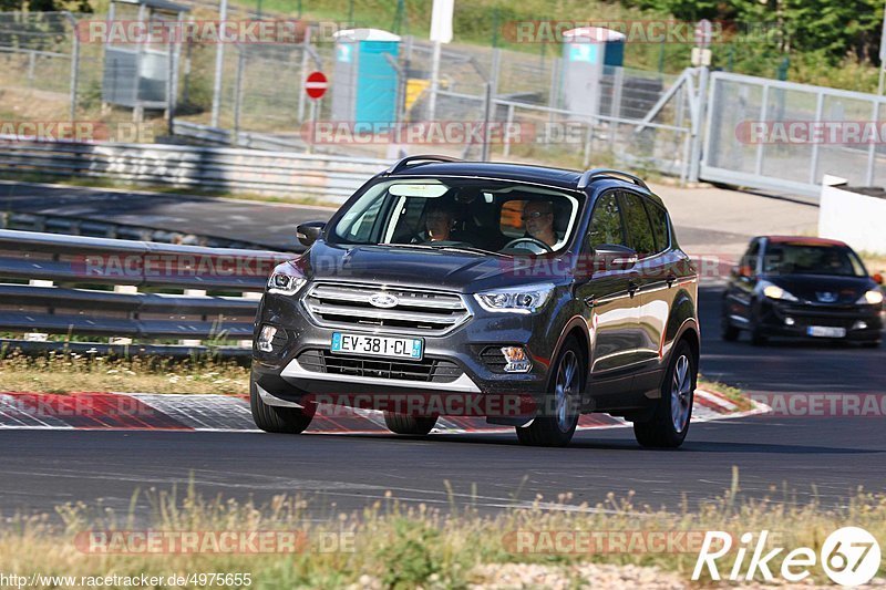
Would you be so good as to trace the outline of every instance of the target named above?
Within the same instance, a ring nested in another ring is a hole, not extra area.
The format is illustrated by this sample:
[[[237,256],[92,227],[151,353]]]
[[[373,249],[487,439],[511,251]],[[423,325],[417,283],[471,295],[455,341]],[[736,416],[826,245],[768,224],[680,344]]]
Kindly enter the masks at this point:
[[[400,37],[380,29],[349,29],[334,38],[332,118],[377,130],[393,124],[398,74],[390,60],[398,60]]]

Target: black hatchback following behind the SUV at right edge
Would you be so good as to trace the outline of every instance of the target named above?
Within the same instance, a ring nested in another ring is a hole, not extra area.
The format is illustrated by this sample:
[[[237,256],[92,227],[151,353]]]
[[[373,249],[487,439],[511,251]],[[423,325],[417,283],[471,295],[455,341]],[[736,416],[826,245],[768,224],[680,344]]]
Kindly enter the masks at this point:
[[[842,241],[753,238],[723,293],[722,337],[735,340],[746,330],[754,344],[779,335],[878,346],[882,282]]]

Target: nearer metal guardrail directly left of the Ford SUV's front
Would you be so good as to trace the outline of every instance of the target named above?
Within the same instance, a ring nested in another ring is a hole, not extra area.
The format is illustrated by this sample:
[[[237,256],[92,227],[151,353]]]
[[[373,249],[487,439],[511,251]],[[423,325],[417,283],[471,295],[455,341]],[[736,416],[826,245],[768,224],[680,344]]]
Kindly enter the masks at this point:
[[[243,356],[257,294],[274,266],[292,256],[0,230],[0,331],[22,337],[0,343],[24,350]],[[110,340],[60,342],[49,334]],[[146,342],[133,343],[136,339]]]

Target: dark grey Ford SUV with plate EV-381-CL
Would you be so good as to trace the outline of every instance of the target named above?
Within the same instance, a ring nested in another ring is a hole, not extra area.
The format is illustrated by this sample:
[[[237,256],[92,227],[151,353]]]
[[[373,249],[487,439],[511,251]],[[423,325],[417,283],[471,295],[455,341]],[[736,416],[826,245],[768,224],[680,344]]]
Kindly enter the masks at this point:
[[[327,402],[400,434],[467,411],[566,445],[605,412],[646,446],[686,437],[698,275],[639,178],[411,156],[298,237],[256,318],[260,428],[300,433]]]

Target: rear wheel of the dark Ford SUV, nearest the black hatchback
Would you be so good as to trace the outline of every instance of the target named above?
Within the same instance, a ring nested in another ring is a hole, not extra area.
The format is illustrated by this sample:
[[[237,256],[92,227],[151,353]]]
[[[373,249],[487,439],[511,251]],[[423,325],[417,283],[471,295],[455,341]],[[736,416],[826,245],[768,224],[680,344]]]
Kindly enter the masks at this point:
[[[698,366],[692,349],[681,340],[671,353],[652,418],[633,423],[633,435],[640,446],[677,448],[683,444],[692,421],[697,380]]]

